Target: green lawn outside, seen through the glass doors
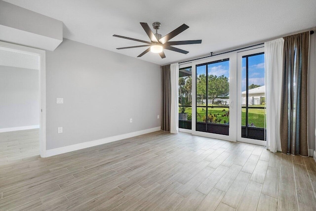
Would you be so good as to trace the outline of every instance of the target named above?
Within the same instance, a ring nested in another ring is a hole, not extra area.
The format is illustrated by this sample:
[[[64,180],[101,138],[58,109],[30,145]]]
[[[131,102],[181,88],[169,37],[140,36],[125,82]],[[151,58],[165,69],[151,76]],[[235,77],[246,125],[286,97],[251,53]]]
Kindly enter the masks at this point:
[[[264,107],[264,105],[256,105],[256,107]],[[223,111],[225,109],[225,111]],[[204,110],[204,111],[203,111]],[[217,119],[221,119],[221,124],[229,123],[229,117],[222,117],[222,115],[226,114],[228,108],[208,108],[208,115],[212,114],[213,116],[216,115]],[[188,113],[188,119],[192,120],[192,109],[187,108],[186,113]],[[197,122],[204,122],[205,120],[205,108],[197,108]],[[265,127],[265,109],[255,109],[249,108],[248,109],[248,124],[253,127]],[[246,125],[246,109],[241,109],[241,125]]]

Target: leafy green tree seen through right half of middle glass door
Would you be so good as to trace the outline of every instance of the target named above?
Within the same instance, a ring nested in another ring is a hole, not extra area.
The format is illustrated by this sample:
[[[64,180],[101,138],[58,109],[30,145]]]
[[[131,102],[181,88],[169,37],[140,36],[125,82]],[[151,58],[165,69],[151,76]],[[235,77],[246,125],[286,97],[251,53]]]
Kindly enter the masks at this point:
[[[225,97],[229,95],[229,82],[228,78],[224,75],[222,76],[208,76],[208,96],[212,99],[212,104],[214,104],[215,98]]]

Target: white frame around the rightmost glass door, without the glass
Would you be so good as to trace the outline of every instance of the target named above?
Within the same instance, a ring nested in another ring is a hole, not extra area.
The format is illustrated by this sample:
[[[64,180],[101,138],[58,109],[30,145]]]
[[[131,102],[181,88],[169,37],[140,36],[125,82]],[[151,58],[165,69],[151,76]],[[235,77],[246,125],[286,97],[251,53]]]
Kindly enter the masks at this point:
[[[251,54],[256,54],[264,52],[264,46],[260,46],[254,49],[247,49],[243,50],[240,52],[237,52],[237,72],[238,72],[238,87],[237,87],[237,142],[243,142],[243,143],[250,143],[250,144],[256,144],[256,145],[261,145],[261,146],[266,146],[267,141],[263,140],[256,140],[256,139],[251,139],[251,138],[243,138],[241,137],[241,98],[242,98],[242,93],[241,93],[241,71],[242,71],[242,56],[246,55],[251,55]]]

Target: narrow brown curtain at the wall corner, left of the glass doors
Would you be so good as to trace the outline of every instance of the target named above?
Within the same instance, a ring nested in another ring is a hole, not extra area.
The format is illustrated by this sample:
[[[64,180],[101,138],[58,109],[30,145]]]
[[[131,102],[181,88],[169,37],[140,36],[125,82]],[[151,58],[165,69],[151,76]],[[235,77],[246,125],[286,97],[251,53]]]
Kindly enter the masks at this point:
[[[161,66],[161,83],[162,83],[161,130],[170,131],[170,112],[171,112],[170,65]]]

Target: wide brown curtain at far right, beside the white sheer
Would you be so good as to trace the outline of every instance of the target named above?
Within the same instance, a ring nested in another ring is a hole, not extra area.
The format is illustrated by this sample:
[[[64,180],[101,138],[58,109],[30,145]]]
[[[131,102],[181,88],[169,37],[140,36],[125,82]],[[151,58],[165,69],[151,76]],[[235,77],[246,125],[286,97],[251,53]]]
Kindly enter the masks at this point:
[[[280,137],[282,153],[308,156],[307,87],[310,33],[284,38]]]

